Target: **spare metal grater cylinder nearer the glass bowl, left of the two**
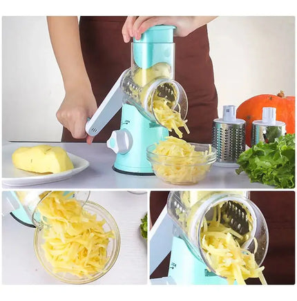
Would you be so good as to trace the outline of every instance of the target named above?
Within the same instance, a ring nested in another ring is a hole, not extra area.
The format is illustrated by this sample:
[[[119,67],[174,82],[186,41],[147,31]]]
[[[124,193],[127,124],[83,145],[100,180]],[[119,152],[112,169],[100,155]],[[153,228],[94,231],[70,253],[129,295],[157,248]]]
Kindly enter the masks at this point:
[[[236,167],[245,151],[245,120],[236,118],[235,106],[224,106],[223,117],[213,120],[213,143],[217,150],[216,166]]]

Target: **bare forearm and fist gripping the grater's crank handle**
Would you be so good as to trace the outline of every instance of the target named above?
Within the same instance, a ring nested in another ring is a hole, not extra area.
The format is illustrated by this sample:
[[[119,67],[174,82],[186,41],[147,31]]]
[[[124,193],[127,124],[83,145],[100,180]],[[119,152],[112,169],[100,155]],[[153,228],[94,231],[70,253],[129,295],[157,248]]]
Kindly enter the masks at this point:
[[[84,66],[78,19],[75,16],[54,16],[47,17],[47,20],[52,49],[66,90],[57,119],[70,130],[73,138],[86,138],[86,142],[91,144],[93,137],[86,134],[85,126],[97,110],[97,104]]]

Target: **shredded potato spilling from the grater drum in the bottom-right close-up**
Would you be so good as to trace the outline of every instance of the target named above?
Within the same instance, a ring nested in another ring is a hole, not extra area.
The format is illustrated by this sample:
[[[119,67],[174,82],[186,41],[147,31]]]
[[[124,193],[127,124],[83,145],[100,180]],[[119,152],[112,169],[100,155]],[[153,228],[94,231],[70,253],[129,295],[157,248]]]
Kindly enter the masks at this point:
[[[233,284],[234,281],[245,284],[247,278],[259,278],[262,284],[267,284],[262,274],[264,266],[259,267],[254,253],[240,246],[242,235],[224,226],[216,216],[215,210],[211,221],[204,217],[201,229],[202,249],[206,252],[206,258],[215,273],[227,278],[229,284]],[[220,217],[220,213],[218,216]],[[256,240],[256,237],[253,240]]]

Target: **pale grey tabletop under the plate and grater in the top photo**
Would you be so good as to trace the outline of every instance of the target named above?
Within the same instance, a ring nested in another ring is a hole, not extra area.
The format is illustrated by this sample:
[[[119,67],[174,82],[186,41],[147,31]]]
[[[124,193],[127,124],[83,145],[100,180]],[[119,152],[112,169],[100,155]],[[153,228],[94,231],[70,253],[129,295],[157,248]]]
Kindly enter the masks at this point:
[[[20,146],[34,146],[41,143],[32,142],[6,142],[17,143]],[[172,188],[271,188],[271,186],[260,183],[251,183],[245,173],[236,174],[236,168],[224,168],[212,166],[211,171],[202,182],[194,185],[178,186],[162,182],[156,176],[136,176],[124,175],[113,171],[112,166],[115,161],[115,153],[107,148],[105,143],[61,143],[46,142],[51,146],[61,146],[69,153],[82,157],[90,166],[85,171],[70,179],[49,184],[39,184],[35,186],[23,186],[22,188],[125,188],[125,189],[172,189]],[[10,188],[3,184],[3,188]]]

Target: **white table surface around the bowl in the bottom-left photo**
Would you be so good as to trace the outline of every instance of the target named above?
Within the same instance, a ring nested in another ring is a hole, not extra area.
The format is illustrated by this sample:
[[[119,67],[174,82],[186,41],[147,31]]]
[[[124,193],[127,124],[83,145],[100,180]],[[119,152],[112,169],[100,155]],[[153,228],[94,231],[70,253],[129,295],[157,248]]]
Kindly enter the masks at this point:
[[[115,218],[121,248],[115,265],[90,284],[146,284],[147,245],[140,235],[140,219],[148,210],[147,195],[127,191],[93,191],[90,200],[106,208]],[[10,214],[2,218],[2,283],[64,284],[49,275],[35,256],[35,229],[23,226]]]

